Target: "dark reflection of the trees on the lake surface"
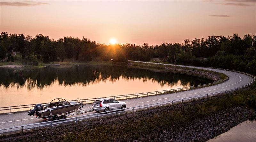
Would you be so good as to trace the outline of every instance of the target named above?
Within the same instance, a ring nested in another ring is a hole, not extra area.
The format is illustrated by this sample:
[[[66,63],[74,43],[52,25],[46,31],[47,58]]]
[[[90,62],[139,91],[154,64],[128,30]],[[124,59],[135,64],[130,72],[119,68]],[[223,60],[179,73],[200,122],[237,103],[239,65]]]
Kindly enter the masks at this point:
[[[18,88],[26,87],[44,88],[51,86],[58,81],[59,85],[73,86],[82,85],[83,87],[92,83],[116,82],[120,77],[124,80],[142,79],[143,82],[153,80],[160,86],[176,85],[180,81],[183,87],[188,83],[190,86],[212,82],[208,79],[198,78],[190,75],[175,74],[170,72],[152,72],[145,69],[136,69],[116,66],[73,66],[69,68],[45,67],[41,69],[22,70],[0,68],[0,86],[8,88],[16,85]]]

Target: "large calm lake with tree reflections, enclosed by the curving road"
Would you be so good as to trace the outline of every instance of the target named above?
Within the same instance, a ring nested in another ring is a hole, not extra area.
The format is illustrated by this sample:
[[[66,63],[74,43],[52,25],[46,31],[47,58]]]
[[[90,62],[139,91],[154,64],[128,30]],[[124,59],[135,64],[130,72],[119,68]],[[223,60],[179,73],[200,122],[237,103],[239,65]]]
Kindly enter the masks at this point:
[[[209,79],[104,65],[0,68],[0,107],[143,93],[212,82]]]

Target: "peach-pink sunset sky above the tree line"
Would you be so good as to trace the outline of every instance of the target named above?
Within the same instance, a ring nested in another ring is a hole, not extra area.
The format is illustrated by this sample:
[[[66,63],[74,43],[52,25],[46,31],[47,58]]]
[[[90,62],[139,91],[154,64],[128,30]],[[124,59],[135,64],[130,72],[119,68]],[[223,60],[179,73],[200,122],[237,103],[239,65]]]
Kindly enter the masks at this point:
[[[0,32],[109,44],[256,34],[256,0],[0,0]]]

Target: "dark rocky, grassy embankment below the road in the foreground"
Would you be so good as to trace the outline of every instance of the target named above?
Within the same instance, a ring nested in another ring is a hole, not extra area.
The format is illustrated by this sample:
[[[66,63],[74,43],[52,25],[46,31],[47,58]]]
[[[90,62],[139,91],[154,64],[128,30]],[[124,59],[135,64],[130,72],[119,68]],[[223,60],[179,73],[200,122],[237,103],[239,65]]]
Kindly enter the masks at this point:
[[[0,136],[0,141],[206,141],[255,117],[236,95]]]

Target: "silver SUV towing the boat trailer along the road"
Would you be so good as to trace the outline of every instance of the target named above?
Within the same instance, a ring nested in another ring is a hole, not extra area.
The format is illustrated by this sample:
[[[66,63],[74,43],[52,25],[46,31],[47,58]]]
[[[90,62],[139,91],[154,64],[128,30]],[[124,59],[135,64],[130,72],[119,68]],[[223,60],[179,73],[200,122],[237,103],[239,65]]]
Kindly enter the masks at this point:
[[[126,108],[126,103],[121,101],[119,102],[116,99],[111,99],[111,98],[96,99],[92,103],[92,110],[95,110],[97,112],[99,111],[108,112],[109,110],[116,110],[116,109],[125,110],[125,108]]]

